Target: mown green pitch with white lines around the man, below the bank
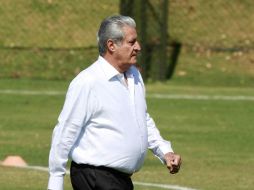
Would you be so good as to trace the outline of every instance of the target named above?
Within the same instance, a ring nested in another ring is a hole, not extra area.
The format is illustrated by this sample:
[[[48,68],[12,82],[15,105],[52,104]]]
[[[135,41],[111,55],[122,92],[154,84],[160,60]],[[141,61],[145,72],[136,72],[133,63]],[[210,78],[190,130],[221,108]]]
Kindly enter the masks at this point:
[[[67,81],[0,80],[0,160],[21,155],[29,165],[47,167],[53,127],[64,101]],[[6,89],[18,90],[7,93]],[[18,94],[59,91],[60,95]],[[188,95],[183,98],[155,98]],[[182,170],[169,175],[159,160],[148,154],[133,180],[207,190],[251,190],[254,187],[253,88],[193,87],[174,83],[147,85],[149,112],[164,138],[183,157]],[[195,99],[200,95],[225,99]],[[243,97],[241,100],[230,97]],[[0,189],[46,189],[47,172],[0,166]],[[69,176],[65,189],[70,190]],[[137,190],[160,189],[135,185]]]

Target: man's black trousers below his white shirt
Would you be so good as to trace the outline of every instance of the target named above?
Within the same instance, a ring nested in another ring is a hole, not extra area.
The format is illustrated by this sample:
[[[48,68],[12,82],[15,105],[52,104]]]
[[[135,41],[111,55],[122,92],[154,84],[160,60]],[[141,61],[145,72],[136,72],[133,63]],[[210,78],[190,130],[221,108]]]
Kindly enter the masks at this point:
[[[131,175],[111,168],[71,163],[74,190],[133,190]]]

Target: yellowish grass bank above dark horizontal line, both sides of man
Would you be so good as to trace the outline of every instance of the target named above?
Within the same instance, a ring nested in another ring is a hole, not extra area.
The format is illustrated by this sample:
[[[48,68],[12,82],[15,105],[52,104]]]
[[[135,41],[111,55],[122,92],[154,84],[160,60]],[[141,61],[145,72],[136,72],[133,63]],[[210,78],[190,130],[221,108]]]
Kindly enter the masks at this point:
[[[0,45],[94,46],[101,19],[118,13],[119,3],[119,0],[1,1]],[[158,3],[152,4],[159,13]],[[187,44],[250,45],[254,29],[252,6],[251,0],[235,0],[230,4],[221,0],[171,1],[170,37]],[[156,22],[149,24],[149,29],[156,32]]]

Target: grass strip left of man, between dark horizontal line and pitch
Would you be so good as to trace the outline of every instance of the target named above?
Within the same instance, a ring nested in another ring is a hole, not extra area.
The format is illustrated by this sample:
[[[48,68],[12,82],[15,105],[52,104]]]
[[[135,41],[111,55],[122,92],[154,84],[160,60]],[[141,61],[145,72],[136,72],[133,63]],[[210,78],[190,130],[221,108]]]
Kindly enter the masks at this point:
[[[0,78],[68,80],[98,57],[96,48],[81,50],[0,50]]]

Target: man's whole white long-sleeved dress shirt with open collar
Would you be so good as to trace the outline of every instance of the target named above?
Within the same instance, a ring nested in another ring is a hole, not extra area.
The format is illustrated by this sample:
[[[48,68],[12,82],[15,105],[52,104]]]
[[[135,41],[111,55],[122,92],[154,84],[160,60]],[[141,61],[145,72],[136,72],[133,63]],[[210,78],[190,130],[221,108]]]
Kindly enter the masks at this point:
[[[62,190],[68,158],[132,174],[147,149],[164,162],[173,152],[147,113],[145,89],[135,66],[119,73],[103,57],[71,82],[49,155],[48,189]]]

